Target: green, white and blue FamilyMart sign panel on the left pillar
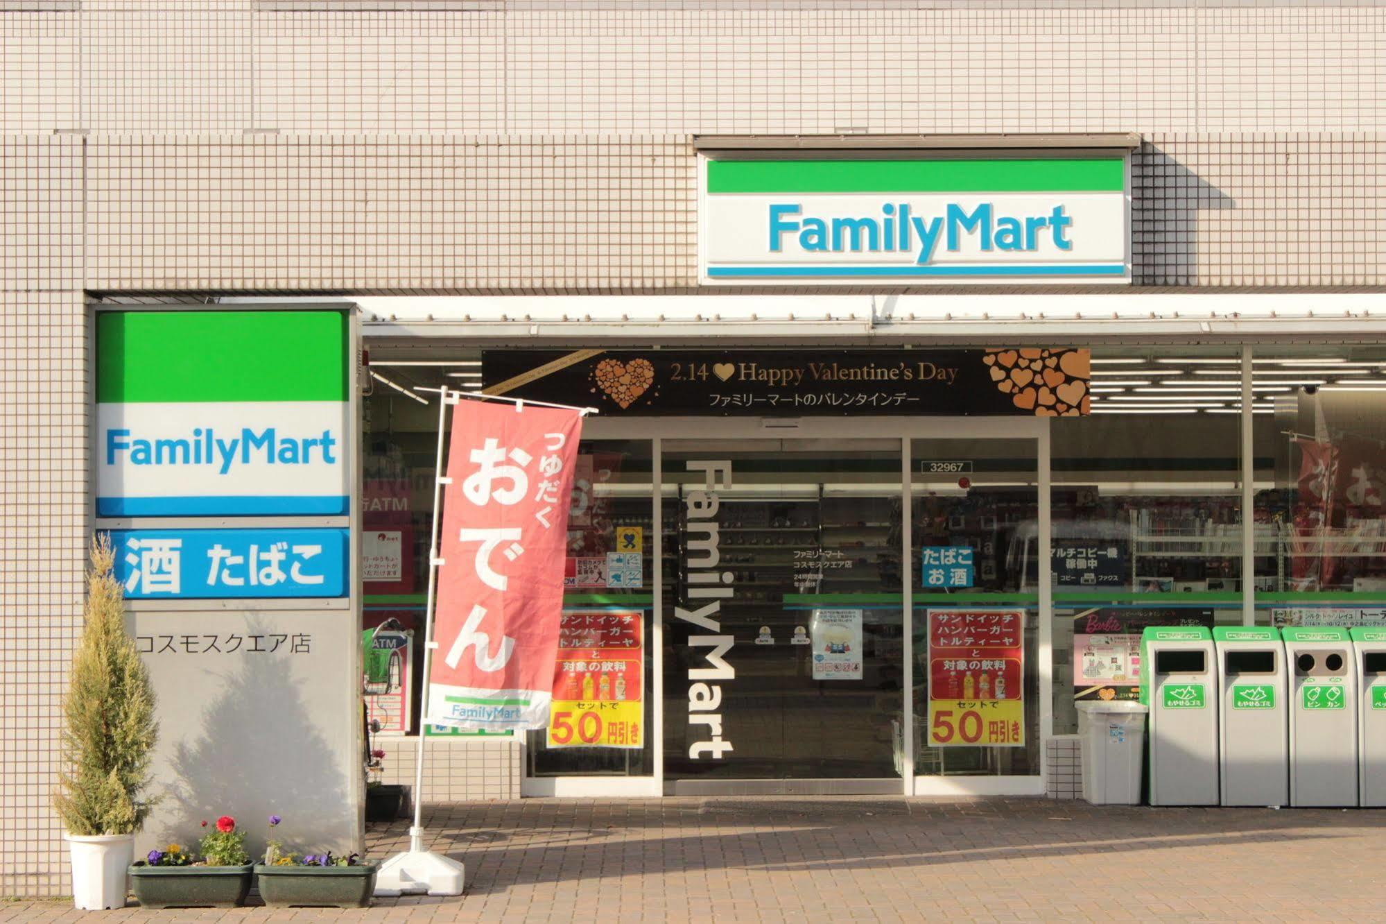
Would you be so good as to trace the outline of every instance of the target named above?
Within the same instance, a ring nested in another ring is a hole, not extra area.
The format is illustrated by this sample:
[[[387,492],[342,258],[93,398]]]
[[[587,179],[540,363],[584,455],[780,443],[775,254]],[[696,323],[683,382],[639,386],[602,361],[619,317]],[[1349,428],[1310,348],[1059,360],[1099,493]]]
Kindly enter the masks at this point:
[[[348,318],[97,315],[97,516],[348,513]]]

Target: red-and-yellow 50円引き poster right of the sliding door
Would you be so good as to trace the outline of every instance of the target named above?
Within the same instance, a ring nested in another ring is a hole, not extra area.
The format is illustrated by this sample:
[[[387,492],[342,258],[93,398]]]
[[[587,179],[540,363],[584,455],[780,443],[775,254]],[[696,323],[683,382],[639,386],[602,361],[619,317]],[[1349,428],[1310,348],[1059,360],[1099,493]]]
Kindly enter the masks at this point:
[[[929,746],[1024,746],[1024,626],[1019,609],[929,610]]]

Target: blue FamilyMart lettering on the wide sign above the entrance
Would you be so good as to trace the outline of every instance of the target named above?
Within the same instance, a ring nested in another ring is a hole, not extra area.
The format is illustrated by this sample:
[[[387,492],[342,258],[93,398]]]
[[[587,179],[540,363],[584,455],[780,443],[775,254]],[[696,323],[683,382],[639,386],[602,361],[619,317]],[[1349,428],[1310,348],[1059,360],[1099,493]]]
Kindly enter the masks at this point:
[[[963,236],[976,236],[983,251],[1037,251],[1048,240],[1059,250],[1073,250],[1067,232],[1073,216],[1063,205],[1055,205],[1048,215],[997,215],[991,203],[981,203],[970,212],[952,203],[942,215],[911,215],[909,203],[884,203],[880,216],[819,218],[804,215],[798,203],[776,203],[769,207],[769,244],[772,253],[783,253],[784,237],[794,236],[798,247],[808,253],[909,253],[918,251],[920,266],[933,259],[942,243],[944,248],[962,250]]]

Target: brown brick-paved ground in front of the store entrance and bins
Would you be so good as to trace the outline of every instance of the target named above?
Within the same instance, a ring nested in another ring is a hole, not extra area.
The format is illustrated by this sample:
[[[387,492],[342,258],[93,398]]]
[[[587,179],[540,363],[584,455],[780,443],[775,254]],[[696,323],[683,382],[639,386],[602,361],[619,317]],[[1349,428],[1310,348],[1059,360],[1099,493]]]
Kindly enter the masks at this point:
[[[1044,799],[758,798],[439,806],[460,899],[365,912],[0,903],[0,921],[1364,921],[1386,918],[1386,813],[1098,809]],[[371,856],[407,823],[370,834]]]

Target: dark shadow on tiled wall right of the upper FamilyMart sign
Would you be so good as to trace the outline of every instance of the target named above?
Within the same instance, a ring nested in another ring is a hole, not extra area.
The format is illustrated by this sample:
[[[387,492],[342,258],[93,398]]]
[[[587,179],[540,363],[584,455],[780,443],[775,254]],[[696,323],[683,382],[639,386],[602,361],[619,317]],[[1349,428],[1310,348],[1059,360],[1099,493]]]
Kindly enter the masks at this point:
[[[1217,282],[1199,272],[1200,214],[1236,200],[1145,142],[1131,153],[1131,282],[1192,286]]]

